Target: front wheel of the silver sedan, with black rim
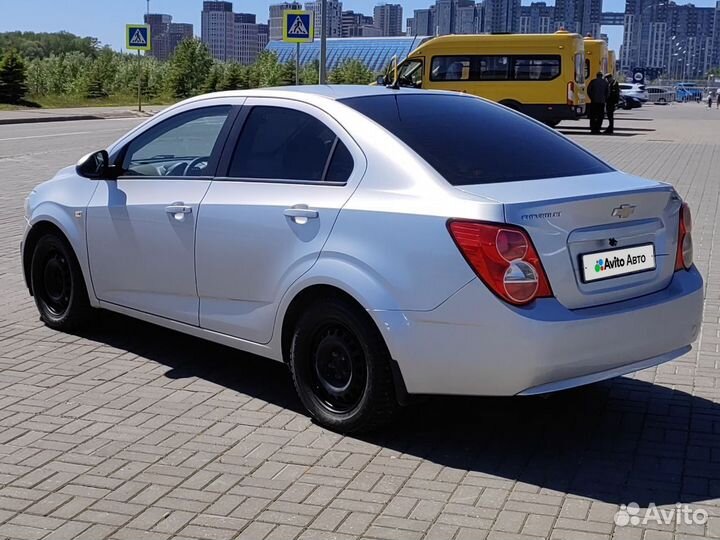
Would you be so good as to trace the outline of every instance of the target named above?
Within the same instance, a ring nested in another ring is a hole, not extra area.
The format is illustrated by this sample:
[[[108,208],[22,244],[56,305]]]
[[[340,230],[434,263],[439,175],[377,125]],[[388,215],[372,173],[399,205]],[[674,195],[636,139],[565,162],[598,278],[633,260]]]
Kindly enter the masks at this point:
[[[92,312],[80,264],[68,242],[49,233],[40,237],[30,263],[30,283],[40,319],[62,331],[85,326]]]

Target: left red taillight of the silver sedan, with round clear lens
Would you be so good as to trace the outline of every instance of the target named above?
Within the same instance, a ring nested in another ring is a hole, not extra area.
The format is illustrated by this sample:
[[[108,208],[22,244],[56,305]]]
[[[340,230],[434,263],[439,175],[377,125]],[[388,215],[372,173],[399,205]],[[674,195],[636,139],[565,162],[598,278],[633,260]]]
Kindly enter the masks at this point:
[[[515,305],[552,296],[532,241],[520,227],[450,221],[450,234],[492,292]]]

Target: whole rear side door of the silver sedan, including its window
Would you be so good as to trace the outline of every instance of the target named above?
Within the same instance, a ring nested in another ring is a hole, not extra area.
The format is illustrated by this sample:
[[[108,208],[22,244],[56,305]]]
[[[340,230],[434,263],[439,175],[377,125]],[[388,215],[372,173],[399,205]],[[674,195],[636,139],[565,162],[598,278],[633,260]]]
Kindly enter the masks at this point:
[[[323,141],[328,135],[323,132],[322,140],[317,140],[307,126],[297,131],[289,129],[293,122],[289,120],[277,129],[274,124],[263,124],[274,137],[287,137],[279,146],[282,155],[267,162],[278,140],[266,140],[253,115],[260,114],[255,113],[258,108],[282,103],[276,99],[248,99],[246,106],[255,109],[250,109],[243,126],[247,140],[241,134],[237,146],[246,159],[238,164],[233,158],[228,169],[280,178],[214,180],[198,220],[200,326],[257,343],[270,341],[280,299],[317,260],[340,209],[365,170],[362,152],[344,130],[318,109],[297,102],[286,106],[319,119],[338,139],[339,144],[328,150],[333,157],[325,167],[309,163],[283,174],[278,162],[293,163],[313,153],[324,155]],[[267,115],[268,121],[272,116]],[[304,154],[297,151],[296,137],[303,141]],[[231,149],[234,154],[235,150]],[[346,166],[339,165],[343,160],[334,157],[340,155],[346,157]],[[329,183],[300,178],[316,176],[318,170],[323,178],[339,180]]]

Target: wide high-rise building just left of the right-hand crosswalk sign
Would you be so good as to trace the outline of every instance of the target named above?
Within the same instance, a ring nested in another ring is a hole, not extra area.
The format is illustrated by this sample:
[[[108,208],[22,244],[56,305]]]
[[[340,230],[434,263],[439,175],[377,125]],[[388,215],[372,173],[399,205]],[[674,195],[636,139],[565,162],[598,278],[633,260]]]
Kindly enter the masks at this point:
[[[203,2],[202,40],[213,58],[252,64],[267,44],[268,25],[252,13],[233,13],[231,2]]]

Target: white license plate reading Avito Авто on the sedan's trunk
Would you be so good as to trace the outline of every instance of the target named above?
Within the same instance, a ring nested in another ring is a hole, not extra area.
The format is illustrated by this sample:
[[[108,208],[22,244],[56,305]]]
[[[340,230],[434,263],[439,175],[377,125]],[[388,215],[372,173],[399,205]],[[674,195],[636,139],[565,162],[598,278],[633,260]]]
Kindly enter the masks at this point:
[[[645,244],[630,248],[588,253],[581,257],[583,281],[599,281],[655,269],[655,246]]]

